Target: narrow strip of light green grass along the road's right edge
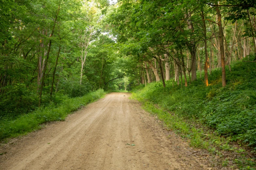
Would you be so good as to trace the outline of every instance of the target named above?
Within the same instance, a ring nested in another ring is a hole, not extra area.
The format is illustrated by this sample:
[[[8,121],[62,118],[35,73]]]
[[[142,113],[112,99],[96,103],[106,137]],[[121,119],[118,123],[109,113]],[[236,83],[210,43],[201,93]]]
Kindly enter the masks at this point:
[[[229,138],[225,138],[209,127],[202,125],[197,120],[187,120],[186,118],[169,112],[166,109],[141,98],[132,92],[131,99],[136,99],[142,103],[142,108],[152,116],[163,122],[167,130],[174,131],[186,140],[191,147],[206,149],[210,154],[222,158],[222,166],[239,168],[240,170],[256,170],[255,158],[249,158],[246,154],[237,155],[235,159],[223,157],[222,151],[232,151],[232,153],[245,152],[245,146],[232,145]]]

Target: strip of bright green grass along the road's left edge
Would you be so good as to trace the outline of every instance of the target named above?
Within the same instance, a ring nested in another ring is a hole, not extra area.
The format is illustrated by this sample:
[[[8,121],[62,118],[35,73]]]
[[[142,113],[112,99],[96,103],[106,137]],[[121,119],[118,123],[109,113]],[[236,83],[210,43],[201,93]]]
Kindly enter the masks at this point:
[[[45,122],[63,121],[69,113],[77,110],[81,106],[96,101],[105,94],[106,92],[100,89],[82,97],[66,99],[58,106],[53,104],[47,107],[40,107],[33,112],[17,117],[15,120],[1,120],[0,140],[25,135],[34,130],[41,129],[42,124]]]

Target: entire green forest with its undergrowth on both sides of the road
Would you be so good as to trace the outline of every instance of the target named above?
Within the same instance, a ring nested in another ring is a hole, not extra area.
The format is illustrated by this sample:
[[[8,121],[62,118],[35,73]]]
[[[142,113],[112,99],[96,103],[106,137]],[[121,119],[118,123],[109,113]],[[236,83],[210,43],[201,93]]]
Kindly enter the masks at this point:
[[[221,136],[221,149],[230,142],[253,149],[255,7],[254,0],[0,0],[0,139],[64,120],[106,92],[131,91],[149,112],[161,107],[162,121],[196,147],[209,144],[181,127],[186,121]]]

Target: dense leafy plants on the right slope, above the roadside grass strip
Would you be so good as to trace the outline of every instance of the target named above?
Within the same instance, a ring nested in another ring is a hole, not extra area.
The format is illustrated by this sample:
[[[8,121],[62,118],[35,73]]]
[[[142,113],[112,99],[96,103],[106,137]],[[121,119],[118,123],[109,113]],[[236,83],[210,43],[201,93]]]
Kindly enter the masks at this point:
[[[221,73],[214,70],[209,76],[210,86],[197,80],[189,87],[172,87],[172,80],[150,83],[133,89],[139,98],[158,104],[180,117],[199,120],[216,129],[231,141],[256,144],[256,77],[255,64],[238,62],[227,72],[227,86],[222,88]],[[176,83],[175,83],[176,84]]]

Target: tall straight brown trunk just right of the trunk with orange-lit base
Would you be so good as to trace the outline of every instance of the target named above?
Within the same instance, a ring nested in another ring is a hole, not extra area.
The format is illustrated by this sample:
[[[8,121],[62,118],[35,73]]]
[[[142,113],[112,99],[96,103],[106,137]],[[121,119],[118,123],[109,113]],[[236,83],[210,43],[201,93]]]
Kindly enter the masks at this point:
[[[223,43],[223,31],[221,23],[221,13],[218,7],[218,1],[215,0],[215,8],[218,16],[218,26],[220,35],[220,58],[221,58],[221,69],[222,69],[222,87],[226,86],[226,70],[225,70],[225,53],[224,53],[224,43]]]

